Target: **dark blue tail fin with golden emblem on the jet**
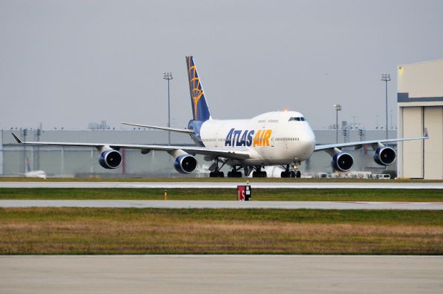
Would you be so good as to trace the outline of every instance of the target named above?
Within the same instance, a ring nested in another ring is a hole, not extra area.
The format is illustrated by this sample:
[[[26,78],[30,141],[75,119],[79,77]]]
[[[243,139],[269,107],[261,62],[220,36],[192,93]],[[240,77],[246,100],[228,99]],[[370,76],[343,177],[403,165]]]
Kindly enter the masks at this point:
[[[210,120],[210,111],[206,102],[205,93],[201,87],[197,68],[195,67],[192,56],[186,56],[186,64],[188,65],[189,91],[191,94],[192,116],[194,120]]]

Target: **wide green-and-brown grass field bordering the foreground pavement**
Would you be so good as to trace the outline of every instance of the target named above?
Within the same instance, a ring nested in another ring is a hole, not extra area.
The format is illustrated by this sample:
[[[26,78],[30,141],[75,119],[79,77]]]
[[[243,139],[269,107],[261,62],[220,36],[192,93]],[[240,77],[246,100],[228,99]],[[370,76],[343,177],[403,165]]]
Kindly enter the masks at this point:
[[[442,255],[443,213],[2,208],[0,254]]]

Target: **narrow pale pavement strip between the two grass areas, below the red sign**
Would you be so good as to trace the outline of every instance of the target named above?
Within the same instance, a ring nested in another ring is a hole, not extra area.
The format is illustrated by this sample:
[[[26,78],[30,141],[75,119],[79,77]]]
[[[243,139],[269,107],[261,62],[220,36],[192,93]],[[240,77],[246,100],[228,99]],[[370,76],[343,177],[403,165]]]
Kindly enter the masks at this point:
[[[198,200],[0,200],[1,208],[226,208],[320,210],[443,210],[443,202],[198,201]]]

